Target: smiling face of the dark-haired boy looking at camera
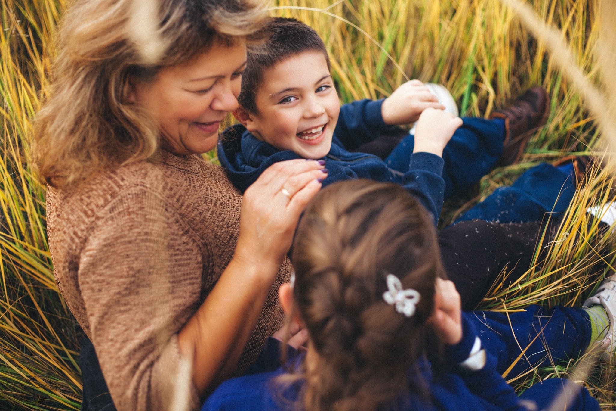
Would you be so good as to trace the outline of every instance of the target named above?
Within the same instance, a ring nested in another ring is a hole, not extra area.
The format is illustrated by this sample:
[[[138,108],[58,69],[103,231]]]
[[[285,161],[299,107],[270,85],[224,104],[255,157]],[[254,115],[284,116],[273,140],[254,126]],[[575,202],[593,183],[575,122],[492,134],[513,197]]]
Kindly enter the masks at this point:
[[[278,150],[314,160],[330,151],[340,103],[325,56],[307,51],[265,70],[255,98],[258,113],[242,123]]]

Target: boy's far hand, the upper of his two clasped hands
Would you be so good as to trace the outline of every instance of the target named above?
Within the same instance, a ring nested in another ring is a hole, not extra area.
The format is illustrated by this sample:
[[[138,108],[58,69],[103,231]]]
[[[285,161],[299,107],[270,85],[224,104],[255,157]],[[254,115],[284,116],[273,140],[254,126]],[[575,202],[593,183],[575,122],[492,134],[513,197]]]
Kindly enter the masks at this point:
[[[387,97],[381,106],[381,115],[385,124],[415,123],[419,115],[426,108],[439,108],[445,106],[424,86],[419,80],[411,80],[402,84]]]

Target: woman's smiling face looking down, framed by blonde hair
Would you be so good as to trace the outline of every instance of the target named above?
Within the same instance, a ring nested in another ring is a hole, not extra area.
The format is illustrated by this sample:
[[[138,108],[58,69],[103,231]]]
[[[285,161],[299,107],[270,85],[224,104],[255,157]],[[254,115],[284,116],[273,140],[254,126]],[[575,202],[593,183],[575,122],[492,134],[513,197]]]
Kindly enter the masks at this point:
[[[238,108],[246,45],[215,44],[188,62],[163,67],[152,81],[131,79],[129,100],[158,125],[163,147],[179,155],[216,147],[218,128]]]

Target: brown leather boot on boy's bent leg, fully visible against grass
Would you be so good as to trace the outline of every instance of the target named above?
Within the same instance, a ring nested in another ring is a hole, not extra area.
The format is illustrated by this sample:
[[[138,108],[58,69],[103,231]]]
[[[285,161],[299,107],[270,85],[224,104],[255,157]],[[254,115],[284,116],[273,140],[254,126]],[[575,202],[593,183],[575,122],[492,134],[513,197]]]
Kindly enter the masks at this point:
[[[548,92],[540,86],[535,86],[517,97],[508,107],[493,112],[490,118],[505,120],[503,154],[498,159],[496,167],[517,163],[530,136],[548,121],[548,116]]]

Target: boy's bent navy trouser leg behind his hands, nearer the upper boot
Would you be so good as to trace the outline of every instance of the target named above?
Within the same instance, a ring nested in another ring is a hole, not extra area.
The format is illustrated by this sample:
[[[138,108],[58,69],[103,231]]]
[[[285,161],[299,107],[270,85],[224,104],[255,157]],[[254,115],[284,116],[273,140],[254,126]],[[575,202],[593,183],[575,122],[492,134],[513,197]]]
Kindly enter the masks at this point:
[[[462,126],[443,150],[445,199],[475,184],[490,173],[503,152],[505,126],[502,120],[465,117]],[[387,167],[406,173],[413,153],[415,136],[404,137],[385,159]]]

